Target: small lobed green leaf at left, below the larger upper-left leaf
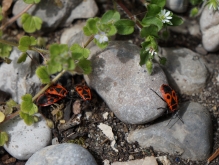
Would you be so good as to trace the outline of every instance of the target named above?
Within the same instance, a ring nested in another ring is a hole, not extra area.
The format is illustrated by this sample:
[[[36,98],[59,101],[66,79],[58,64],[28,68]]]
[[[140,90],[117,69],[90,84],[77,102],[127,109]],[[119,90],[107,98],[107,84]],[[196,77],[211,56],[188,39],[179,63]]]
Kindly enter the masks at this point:
[[[26,52],[27,50],[29,50],[29,46],[34,46],[36,45],[36,39],[32,36],[23,36],[21,37],[21,39],[19,40],[19,46],[18,49],[22,52]]]

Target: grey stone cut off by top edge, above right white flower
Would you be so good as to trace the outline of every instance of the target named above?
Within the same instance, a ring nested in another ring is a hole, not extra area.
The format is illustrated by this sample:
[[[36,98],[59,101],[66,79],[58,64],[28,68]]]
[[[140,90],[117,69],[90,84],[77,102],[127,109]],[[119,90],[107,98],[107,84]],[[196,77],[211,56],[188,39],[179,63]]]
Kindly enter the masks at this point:
[[[167,0],[166,7],[174,12],[183,13],[187,10],[188,0]]]

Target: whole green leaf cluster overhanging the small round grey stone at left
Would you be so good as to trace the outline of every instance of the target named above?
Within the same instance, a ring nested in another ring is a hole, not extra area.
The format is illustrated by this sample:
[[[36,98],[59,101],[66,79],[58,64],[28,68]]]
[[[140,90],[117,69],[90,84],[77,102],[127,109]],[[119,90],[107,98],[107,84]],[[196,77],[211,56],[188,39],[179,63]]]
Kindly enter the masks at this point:
[[[22,96],[20,117],[27,125],[34,123],[34,114],[38,112],[37,106],[32,101],[32,96],[26,94]]]

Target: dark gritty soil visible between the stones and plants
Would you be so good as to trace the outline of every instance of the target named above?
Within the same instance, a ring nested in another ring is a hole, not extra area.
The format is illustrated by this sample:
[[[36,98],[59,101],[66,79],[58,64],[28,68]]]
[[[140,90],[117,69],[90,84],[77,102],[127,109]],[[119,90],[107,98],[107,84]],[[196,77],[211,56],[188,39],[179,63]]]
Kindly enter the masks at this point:
[[[97,0],[98,7],[100,9],[100,12],[98,16],[101,16],[102,13],[104,13],[108,9],[112,9],[112,3],[111,1],[101,1]],[[141,3],[137,0],[129,1],[127,4],[127,8],[130,9],[130,11],[134,14],[139,14],[144,12],[144,7],[141,5]],[[122,12],[122,15],[124,13]],[[182,16],[185,18],[188,18],[188,13],[184,13]],[[189,19],[189,18],[188,18]],[[16,26],[12,26],[12,31],[17,28]],[[60,34],[63,31],[63,29],[58,29],[55,32],[52,32],[50,34],[44,35],[46,37],[49,37],[49,43],[58,42],[60,38]],[[9,29],[10,32],[10,29]],[[55,36],[55,38],[54,38]],[[136,29],[134,34],[130,36],[116,36],[117,40],[131,40],[133,43],[140,46],[141,39],[139,37],[139,32]],[[196,47],[201,44],[201,38],[191,36],[189,34],[180,34],[175,32],[170,32],[170,38],[168,41],[159,41],[159,45],[162,47],[186,47],[193,51],[195,51]],[[194,93],[191,96],[182,95],[182,100],[190,100],[194,102],[198,102],[202,104],[203,106],[207,107],[207,109],[210,111],[211,117],[212,117],[212,123],[213,123],[213,151],[215,151],[217,148],[219,148],[219,128],[218,128],[218,122],[219,122],[219,115],[218,115],[218,103],[219,103],[219,95],[217,93],[218,91],[218,85],[219,82],[217,81],[217,77],[219,74],[219,56],[218,52],[214,54],[208,53],[207,55],[204,55],[204,58],[208,62],[208,66],[211,66],[210,72],[211,76],[209,77],[209,80],[206,84],[206,87],[200,92],[200,93]],[[70,76],[69,79],[72,77]],[[74,76],[74,83],[71,82],[70,84],[77,84],[83,82],[83,78],[81,76]],[[134,82],[133,82],[134,83]],[[181,159],[179,156],[169,155],[167,153],[162,153],[158,151],[154,151],[153,148],[141,148],[137,143],[135,144],[129,144],[126,141],[126,137],[128,133],[131,130],[137,129],[137,128],[144,128],[149,126],[152,123],[145,124],[145,125],[130,125],[125,124],[121,122],[119,119],[116,118],[116,116],[110,111],[106,103],[95,93],[95,91],[92,90],[92,100],[87,103],[80,99],[81,104],[81,111],[82,111],[82,120],[81,123],[74,127],[70,128],[67,131],[64,131],[60,133],[57,129],[57,124],[55,125],[55,129],[53,129],[53,137],[57,137],[59,142],[74,142],[81,144],[83,147],[87,148],[88,151],[94,156],[96,159],[98,165],[103,165],[104,160],[109,160],[110,162],[115,161],[128,161],[128,160],[135,160],[135,159],[141,159],[146,156],[164,156],[167,155],[167,158],[170,160],[171,164],[175,165],[205,165],[207,160],[205,161],[190,161],[190,160],[184,160]],[[74,101],[71,99],[66,99],[59,104],[64,103],[66,107],[68,108],[69,115],[67,118],[71,118],[72,113],[72,104]],[[71,104],[70,104],[71,103]],[[47,113],[44,115],[48,118],[51,118],[54,120],[53,116],[49,113],[51,110],[50,107],[46,108]],[[44,110],[45,111],[45,110]],[[92,115],[89,119],[86,118],[86,112],[92,112]],[[108,118],[103,118],[103,113],[108,112]],[[101,132],[100,129],[98,129],[98,125],[100,123],[107,124],[112,127],[112,131],[114,133],[114,136],[116,138],[116,148],[119,150],[118,153],[116,153],[110,146],[109,139]],[[198,137],[197,137],[198,138]],[[16,164],[16,165],[23,165],[25,164],[25,161],[19,161],[19,160],[13,160],[13,157],[11,157],[3,148],[0,149],[0,160],[2,161],[2,164]],[[5,160],[8,160],[9,163],[3,163]],[[12,160],[10,163],[10,160]],[[0,162],[1,164],[1,162]],[[162,164],[161,162],[159,163]],[[210,163],[210,165],[217,165],[219,164],[219,158],[216,158],[215,160]]]

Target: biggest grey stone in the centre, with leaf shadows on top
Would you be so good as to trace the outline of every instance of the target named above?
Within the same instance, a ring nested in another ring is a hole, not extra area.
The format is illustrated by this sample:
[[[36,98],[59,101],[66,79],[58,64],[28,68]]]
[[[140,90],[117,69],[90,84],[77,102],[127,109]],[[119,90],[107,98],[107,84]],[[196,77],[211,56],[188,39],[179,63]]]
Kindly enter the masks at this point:
[[[140,66],[140,48],[121,41],[110,42],[107,49],[91,48],[92,73],[84,78],[104,99],[114,114],[125,123],[143,124],[162,115],[165,103],[150,88],[159,91],[167,83],[162,69],[154,66],[149,75]]]

